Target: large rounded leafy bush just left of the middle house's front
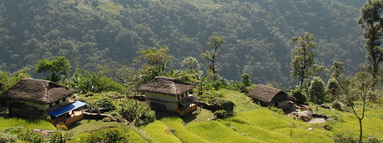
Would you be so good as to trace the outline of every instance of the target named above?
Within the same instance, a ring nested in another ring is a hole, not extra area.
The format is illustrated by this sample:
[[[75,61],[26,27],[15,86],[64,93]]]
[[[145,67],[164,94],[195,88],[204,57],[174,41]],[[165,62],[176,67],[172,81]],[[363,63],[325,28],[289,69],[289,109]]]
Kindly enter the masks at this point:
[[[149,105],[137,100],[128,99],[120,103],[119,114],[136,126],[146,125],[155,120],[155,112]]]

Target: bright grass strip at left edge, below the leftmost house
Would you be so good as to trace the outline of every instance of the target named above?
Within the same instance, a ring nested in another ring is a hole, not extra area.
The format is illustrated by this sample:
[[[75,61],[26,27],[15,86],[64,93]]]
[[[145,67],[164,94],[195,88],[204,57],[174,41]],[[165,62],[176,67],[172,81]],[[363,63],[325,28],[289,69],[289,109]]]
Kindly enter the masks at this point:
[[[5,129],[14,126],[21,126],[25,129],[56,130],[56,127],[54,127],[54,125],[44,120],[0,117],[0,129]]]

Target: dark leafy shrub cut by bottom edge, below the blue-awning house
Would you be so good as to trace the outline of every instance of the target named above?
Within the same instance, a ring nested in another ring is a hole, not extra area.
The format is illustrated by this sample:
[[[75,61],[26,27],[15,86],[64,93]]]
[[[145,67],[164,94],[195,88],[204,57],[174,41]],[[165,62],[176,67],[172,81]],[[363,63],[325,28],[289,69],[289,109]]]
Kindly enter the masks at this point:
[[[121,129],[107,128],[90,133],[85,143],[133,143],[133,141]]]

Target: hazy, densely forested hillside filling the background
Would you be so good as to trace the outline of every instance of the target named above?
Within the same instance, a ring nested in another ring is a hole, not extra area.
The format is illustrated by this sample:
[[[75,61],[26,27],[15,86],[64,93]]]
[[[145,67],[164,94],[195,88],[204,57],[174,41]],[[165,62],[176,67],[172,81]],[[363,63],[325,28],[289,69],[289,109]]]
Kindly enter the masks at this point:
[[[217,35],[226,41],[216,57],[220,76],[239,80],[247,73],[253,83],[293,85],[290,41],[304,32],[317,38],[316,64],[330,69],[334,61],[342,61],[347,70],[365,61],[363,34],[355,20],[359,8],[335,0],[198,2],[1,0],[0,69],[34,69],[38,59],[63,54],[72,70],[95,71],[110,62],[130,66],[137,51],[167,45],[173,56],[169,69],[182,69],[181,61],[192,56],[206,74],[208,61],[201,53],[212,50],[205,42]]]

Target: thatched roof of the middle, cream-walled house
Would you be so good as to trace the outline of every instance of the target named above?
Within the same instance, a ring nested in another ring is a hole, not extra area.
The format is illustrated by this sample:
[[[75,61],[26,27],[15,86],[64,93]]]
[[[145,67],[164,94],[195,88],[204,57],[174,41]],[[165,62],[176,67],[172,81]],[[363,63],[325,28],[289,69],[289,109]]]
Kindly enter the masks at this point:
[[[195,84],[189,84],[175,78],[157,76],[146,85],[139,87],[137,91],[178,96],[193,89],[195,86]]]

